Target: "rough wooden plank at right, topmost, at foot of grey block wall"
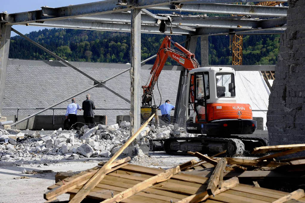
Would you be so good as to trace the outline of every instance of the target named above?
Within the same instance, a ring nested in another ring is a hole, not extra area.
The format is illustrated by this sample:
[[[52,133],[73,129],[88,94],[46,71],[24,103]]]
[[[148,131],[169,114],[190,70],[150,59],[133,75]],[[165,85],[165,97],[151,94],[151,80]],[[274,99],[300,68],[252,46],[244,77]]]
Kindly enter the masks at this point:
[[[291,150],[291,149],[305,150],[305,144],[287,144],[287,145],[256,147],[254,148],[251,154],[265,154],[267,152],[278,152],[278,151]]]

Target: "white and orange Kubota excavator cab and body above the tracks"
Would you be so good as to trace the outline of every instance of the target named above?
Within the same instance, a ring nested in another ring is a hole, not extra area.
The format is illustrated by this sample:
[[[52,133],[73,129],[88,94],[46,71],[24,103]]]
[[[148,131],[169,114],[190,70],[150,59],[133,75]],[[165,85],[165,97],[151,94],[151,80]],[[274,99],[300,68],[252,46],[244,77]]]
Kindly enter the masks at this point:
[[[189,71],[186,130],[189,133],[229,136],[252,134],[249,104],[236,103],[235,71],[231,67],[201,67]]]

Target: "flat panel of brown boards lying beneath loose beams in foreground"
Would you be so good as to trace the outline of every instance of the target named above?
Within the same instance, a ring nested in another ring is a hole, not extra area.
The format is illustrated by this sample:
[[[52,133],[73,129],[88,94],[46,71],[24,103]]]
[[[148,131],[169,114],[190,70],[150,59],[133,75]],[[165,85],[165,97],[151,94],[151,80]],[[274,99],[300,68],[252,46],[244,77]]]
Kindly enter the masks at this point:
[[[128,159],[125,159],[125,161]],[[194,163],[194,162],[193,162]],[[100,163],[99,165],[104,165]],[[222,167],[223,163],[220,162]],[[48,187],[50,191],[61,187],[62,185],[68,184],[74,179],[85,174],[95,172],[99,170],[100,166],[96,166],[90,170],[83,171],[77,175],[70,176],[67,173],[59,173],[56,175],[57,179],[60,179],[56,184]],[[166,170],[154,169],[144,166],[127,164],[119,169],[108,173],[86,196],[83,202],[116,202],[113,200],[118,194],[135,187],[137,184],[143,183],[144,181],[151,179],[152,177],[158,176],[164,173]],[[216,174],[215,172],[214,174]],[[70,177],[69,177],[70,176]],[[214,177],[214,176],[212,176]],[[216,177],[216,176],[215,176]],[[205,200],[208,203],[217,202],[228,202],[228,203],[239,203],[239,202],[253,202],[253,203],[267,203],[267,202],[305,202],[303,196],[303,190],[296,191],[293,194],[287,192],[266,189],[262,187],[255,187],[251,185],[241,184],[238,178],[230,178],[222,181],[219,189],[219,180],[221,176],[213,178],[213,184],[216,183],[216,187],[213,189],[213,195],[207,193],[207,188],[210,187],[208,177],[202,177],[198,175],[185,174],[178,172],[163,182],[156,183],[148,188],[138,188],[135,192],[127,198],[121,199],[117,202],[123,203],[168,203],[168,202],[200,202]],[[163,179],[159,180],[162,181]],[[75,182],[75,181],[74,181]],[[75,182],[75,187],[68,189],[66,193],[70,194],[72,199],[77,192],[83,187],[85,181]],[[143,190],[142,190],[143,189]],[[140,191],[139,191],[140,190]],[[51,193],[52,194],[52,193]],[[120,195],[118,195],[120,196]],[[284,201],[278,201],[284,198]],[[45,199],[53,199],[54,195],[50,195],[50,192],[45,194]],[[292,199],[298,199],[292,200]],[[107,201],[108,200],[108,201]],[[110,200],[110,201],[109,201]],[[290,201],[289,201],[290,200]]]

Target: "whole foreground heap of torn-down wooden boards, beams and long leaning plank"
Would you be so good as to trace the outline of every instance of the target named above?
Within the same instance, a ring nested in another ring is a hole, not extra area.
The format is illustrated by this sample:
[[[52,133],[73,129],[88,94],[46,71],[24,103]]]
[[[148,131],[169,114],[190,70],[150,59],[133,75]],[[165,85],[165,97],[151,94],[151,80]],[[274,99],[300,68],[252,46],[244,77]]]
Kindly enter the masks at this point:
[[[145,122],[144,127],[153,116]],[[221,153],[207,157],[199,152],[190,152],[202,161],[190,160],[167,170],[128,164],[130,157],[115,160],[135,139],[143,126],[109,161],[71,176],[67,173],[58,174],[57,183],[48,187],[49,191],[44,194],[46,203],[58,201],[57,197],[64,193],[70,194],[69,203],[305,203],[302,189],[287,193],[260,187],[257,181],[253,182],[254,186],[242,184],[239,182],[241,175],[228,177],[231,172],[261,172],[263,168],[269,169],[269,172],[278,172],[292,167],[294,171],[298,166],[303,167],[303,159],[280,162],[273,160],[274,156],[270,158],[272,155],[257,160],[215,158]],[[287,154],[300,151],[301,147],[270,146],[254,149],[254,152],[282,151]]]

